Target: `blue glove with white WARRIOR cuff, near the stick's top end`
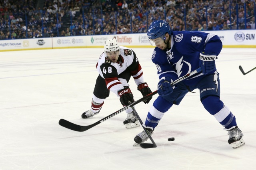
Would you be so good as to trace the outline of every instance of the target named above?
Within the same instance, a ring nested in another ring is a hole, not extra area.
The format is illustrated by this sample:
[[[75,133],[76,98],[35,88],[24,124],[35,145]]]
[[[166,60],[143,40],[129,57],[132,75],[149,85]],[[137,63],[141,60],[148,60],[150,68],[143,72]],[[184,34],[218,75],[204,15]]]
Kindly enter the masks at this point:
[[[212,54],[200,53],[199,65],[202,68],[203,74],[208,74],[211,71],[216,70],[216,66],[215,66],[216,58],[217,58],[217,55],[213,53]]]

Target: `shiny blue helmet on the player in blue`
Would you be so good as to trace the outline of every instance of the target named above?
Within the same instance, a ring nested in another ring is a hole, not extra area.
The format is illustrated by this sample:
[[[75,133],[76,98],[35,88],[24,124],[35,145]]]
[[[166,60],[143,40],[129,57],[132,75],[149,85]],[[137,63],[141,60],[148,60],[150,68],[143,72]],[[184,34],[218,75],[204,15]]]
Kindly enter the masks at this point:
[[[169,26],[169,24],[165,20],[156,20],[150,24],[148,27],[148,38],[150,40],[156,39],[158,37],[162,37],[162,39],[165,39],[166,32],[168,34],[172,33],[172,30]]]

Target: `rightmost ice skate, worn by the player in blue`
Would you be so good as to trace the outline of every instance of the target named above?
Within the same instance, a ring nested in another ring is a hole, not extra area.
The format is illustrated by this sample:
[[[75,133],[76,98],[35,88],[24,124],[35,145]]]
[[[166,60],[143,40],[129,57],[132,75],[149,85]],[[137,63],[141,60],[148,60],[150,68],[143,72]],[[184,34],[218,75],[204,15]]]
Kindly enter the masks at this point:
[[[228,144],[230,144],[234,149],[239,148],[245,144],[244,140],[242,139],[244,134],[237,126],[229,129],[224,128],[224,130],[228,131]]]

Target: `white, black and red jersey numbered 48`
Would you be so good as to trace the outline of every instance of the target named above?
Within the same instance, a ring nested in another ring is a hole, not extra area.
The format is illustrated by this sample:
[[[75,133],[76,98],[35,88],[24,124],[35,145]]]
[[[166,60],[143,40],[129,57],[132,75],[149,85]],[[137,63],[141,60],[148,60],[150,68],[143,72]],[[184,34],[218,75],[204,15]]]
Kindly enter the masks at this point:
[[[118,75],[128,69],[134,78],[136,85],[144,83],[143,72],[134,51],[127,47],[120,46],[120,55],[116,63],[112,63],[105,53],[100,55],[96,69],[101,77],[105,79],[107,88],[117,95],[117,92],[124,88],[118,80]]]

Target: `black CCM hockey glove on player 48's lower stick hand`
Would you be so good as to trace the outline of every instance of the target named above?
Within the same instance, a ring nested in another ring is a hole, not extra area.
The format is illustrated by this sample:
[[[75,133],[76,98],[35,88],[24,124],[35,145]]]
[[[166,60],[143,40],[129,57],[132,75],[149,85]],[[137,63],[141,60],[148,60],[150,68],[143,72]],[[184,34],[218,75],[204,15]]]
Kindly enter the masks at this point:
[[[130,103],[134,102],[133,95],[129,87],[124,87],[124,89],[119,90],[117,93],[123,106],[128,106]]]

